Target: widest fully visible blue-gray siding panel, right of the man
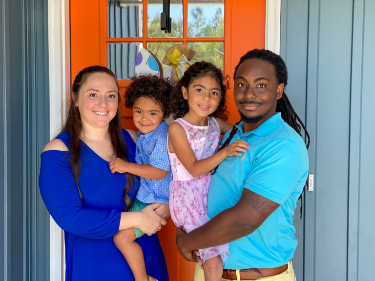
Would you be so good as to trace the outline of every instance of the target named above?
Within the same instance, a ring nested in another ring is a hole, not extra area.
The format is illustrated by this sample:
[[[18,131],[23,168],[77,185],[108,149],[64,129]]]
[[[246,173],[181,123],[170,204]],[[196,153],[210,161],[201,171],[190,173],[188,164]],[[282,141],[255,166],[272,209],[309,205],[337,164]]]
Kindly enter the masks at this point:
[[[352,8],[351,1],[320,1],[315,280],[346,280],[347,274]]]

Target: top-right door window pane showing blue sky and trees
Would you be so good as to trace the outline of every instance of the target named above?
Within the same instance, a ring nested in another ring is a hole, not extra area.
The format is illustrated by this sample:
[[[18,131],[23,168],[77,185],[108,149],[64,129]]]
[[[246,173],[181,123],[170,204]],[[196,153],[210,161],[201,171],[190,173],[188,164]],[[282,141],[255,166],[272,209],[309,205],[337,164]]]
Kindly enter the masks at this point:
[[[188,0],[187,37],[224,36],[224,0]]]

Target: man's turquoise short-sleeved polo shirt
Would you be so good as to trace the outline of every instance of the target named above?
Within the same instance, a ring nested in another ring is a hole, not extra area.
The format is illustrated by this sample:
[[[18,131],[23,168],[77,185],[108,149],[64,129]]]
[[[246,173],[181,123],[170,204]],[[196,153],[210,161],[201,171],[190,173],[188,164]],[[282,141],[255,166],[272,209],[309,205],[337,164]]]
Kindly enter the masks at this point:
[[[243,140],[250,148],[242,156],[227,157],[212,176],[208,216],[234,206],[244,188],[280,204],[254,232],[229,242],[223,264],[225,269],[277,267],[292,259],[297,246],[292,216],[309,170],[306,145],[280,112],[253,131],[243,133],[242,122],[237,128],[230,142]]]

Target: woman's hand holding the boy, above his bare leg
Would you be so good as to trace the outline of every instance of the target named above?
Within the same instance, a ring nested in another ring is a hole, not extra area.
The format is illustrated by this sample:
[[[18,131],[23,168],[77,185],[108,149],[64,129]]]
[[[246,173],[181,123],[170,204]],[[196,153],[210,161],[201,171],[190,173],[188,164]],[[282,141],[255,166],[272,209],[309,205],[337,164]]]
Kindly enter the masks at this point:
[[[160,207],[161,203],[152,203],[139,211],[140,220],[139,225],[136,227],[139,228],[143,233],[147,235],[152,235],[156,231],[159,231],[162,228],[162,225],[165,225],[167,221],[160,217],[155,209]]]

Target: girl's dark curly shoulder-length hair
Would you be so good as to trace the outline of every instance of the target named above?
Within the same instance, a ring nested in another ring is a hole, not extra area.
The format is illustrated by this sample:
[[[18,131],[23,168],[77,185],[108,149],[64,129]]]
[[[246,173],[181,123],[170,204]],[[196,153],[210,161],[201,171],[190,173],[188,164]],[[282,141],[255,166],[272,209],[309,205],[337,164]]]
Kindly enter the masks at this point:
[[[229,76],[227,75],[224,77],[219,68],[207,61],[199,61],[192,64],[187,71],[185,71],[184,76],[177,82],[176,87],[174,87],[171,100],[173,119],[181,118],[189,111],[189,105],[187,100],[182,96],[181,88],[185,87],[188,89],[195,79],[208,75],[213,77],[221,86],[221,99],[219,105],[209,116],[220,117],[224,120],[228,119],[229,112],[227,111],[225,96],[227,89],[229,88]]]

